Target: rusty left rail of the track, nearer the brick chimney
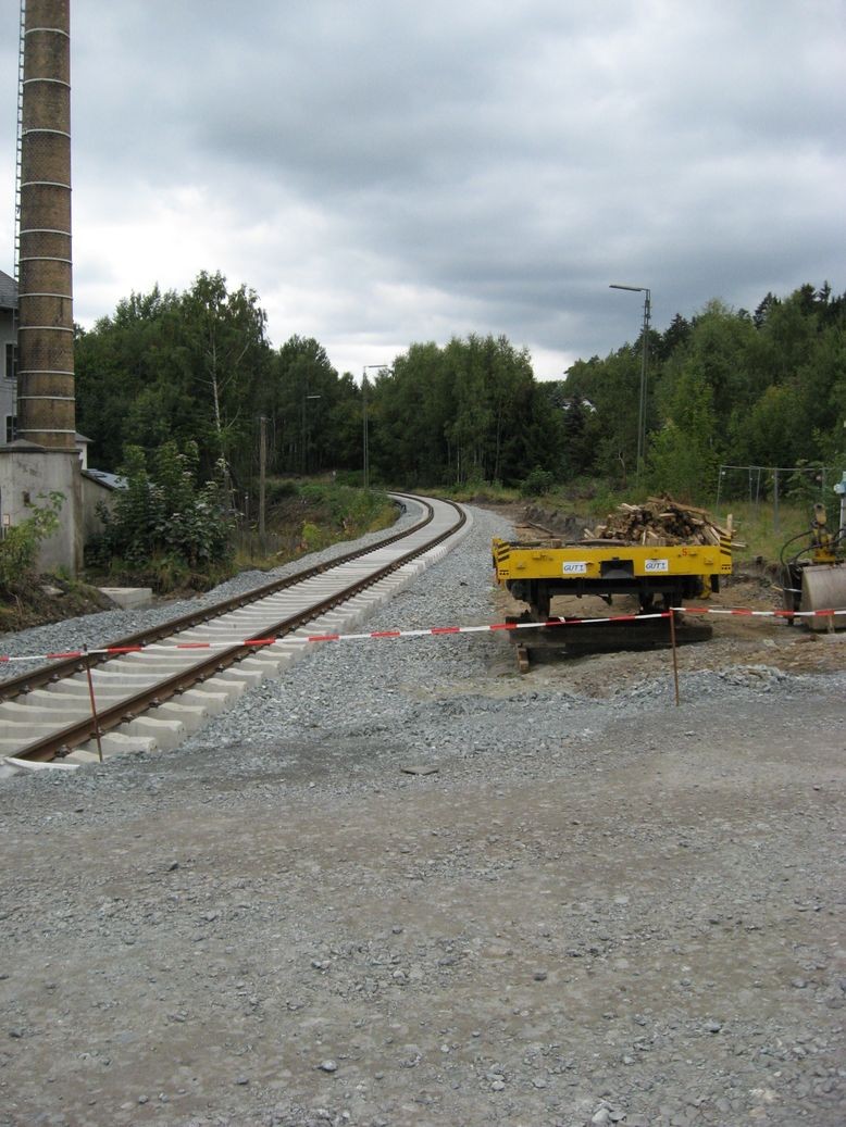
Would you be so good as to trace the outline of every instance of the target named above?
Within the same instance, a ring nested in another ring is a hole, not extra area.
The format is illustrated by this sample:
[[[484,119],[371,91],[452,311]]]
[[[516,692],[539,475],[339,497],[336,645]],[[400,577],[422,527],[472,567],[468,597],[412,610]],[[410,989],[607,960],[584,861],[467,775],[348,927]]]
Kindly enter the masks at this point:
[[[204,606],[201,611],[190,611],[187,614],[168,619],[167,622],[161,622],[159,625],[146,627],[143,630],[138,631],[138,633],[127,635],[125,638],[120,638],[116,641],[107,642],[103,647],[97,648],[125,650],[133,649],[138,646],[149,646],[150,642],[160,641],[162,638],[169,638],[171,635],[179,633],[183,630],[190,630],[192,627],[202,625],[204,622],[211,622],[221,614],[226,614],[227,611],[236,611],[241,606],[248,606],[250,603],[256,603],[261,598],[266,598],[267,595],[285,591],[288,587],[294,587],[298,583],[303,583],[306,579],[310,579],[316,575],[323,575],[325,571],[340,567],[342,564],[349,564],[351,560],[360,559],[369,552],[378,551],[381,548],[387,548],[390,544],[398,543],[406,536],[411,536],[413,533],[420,532],[420,530],[424,529],[428,524],[431,524],[434,511],[425,500],[420,497],[414,497],[411,494],[391,494],[391,497],[406,497],[412,500],[416,500],[424,507],[424,517],[421,521],[417,521],[416,524],[413,524],[409,529],[405,529],[403,532],[395,532],[376,543],[368,544],[365,548],[356,548],[354,551],[336,556],[333,560],[328,560],[324,564],[315,564],[311,567],[303,568],[301,571],[296,571],[282,579],[273,579],[271,583],[263,584],[261,587],[254,587],[252,591],[232,595],[229,598],[221,600],[219,603],[212,603],[210,606]],[[96,665],[103,665],[106,662],[114,660],[121,656],[123,655],[120,653],[97,653],[91,654],[88,660]],[[28,693],[33,689],[41,689],[44,685],[53,684],[71,673],[80,673],[86,668],[87,664],[88,663],[79,656],[55,658],[55,660],[50,662],[47,665],[39,665],[36,669],[32,669],[29,673],[21,673],[16,677],[7,677],[5,681],[0,681],[0,703],[15,700],[16,696]]]

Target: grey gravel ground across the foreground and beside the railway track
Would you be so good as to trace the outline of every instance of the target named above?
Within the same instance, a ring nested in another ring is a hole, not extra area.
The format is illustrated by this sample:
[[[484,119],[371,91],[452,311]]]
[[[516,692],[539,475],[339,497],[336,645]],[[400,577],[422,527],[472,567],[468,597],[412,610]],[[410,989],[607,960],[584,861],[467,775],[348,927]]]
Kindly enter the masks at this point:
[[[501,620],[474,518],[371,629]],[[327,642],[3,782],[0,1125],[843,1125],[844,647],[740,629],[680,707],[664,651]]]

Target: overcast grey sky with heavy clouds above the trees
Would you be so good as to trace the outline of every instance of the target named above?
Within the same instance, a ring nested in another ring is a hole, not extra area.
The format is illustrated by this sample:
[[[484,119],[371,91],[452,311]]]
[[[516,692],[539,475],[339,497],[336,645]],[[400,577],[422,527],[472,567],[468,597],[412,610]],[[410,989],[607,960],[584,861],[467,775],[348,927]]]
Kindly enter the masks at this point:
[[[14,272],[18,5],[0,5]],[[201,269],[338,371],[539,379],[712,298],[846,290],[844,0],[71,0],[74,316]]]

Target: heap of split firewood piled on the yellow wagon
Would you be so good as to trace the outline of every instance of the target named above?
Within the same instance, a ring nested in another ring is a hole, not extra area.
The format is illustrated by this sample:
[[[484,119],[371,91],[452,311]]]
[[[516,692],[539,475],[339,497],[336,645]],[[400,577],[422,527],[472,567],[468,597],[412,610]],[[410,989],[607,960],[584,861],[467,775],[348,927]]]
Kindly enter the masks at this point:
[[[645,505],[618,505],[602,524],[585,529],[584,540],[617,540],[626,544],[660,548],[666,544],[719,544],[731,540],[728,527],[715,524],[704,508],[682,505],[667,494],[649,497]]]

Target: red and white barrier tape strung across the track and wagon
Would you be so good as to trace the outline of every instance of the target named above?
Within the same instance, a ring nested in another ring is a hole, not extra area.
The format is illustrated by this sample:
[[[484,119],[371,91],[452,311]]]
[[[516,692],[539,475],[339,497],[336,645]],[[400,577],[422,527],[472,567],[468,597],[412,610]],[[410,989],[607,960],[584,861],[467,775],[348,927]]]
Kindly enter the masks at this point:
[[[87,657],[89,654],[141,654],[149,650],[161,650],[171,654],[174,650],[190,649],[231,649],[232,646],[254,646],[261,649],[265,646],[274,646],[277,641],[284,645],[307,645],[317,641],[367,641],[376,638],[431,638],[440,635],[458,633],[490,633],[494,630],[537,630],[538,627],[580,627],[596,625],[602,622],[643,622],[646,619],[669,619],[671,614],[728,614],[740,618],[765,618],[765,619],[807,619],[828,618],[837,614],[846,614],[846,610],[826,611],[751,611],[738,607],[717,606],[675,606],[670,611],[660,611],[654,614],[614,614],[601,619],[550,619],[548,622],[495,622],[491,625],[481,627],[430,627],[425,630],[371,630],[368,633],[342,635],[307,635],[294,637],[289,635],[283,638],[245,638],[243,641],[184,641],[173,646],[162,646],[150,642],[148,646],[106,646],[98,649],[73,649],[63,654],[29,654],[24,657],[10,657],[0,654],[0,664],[11,662],[52,662],[67,658]]]

